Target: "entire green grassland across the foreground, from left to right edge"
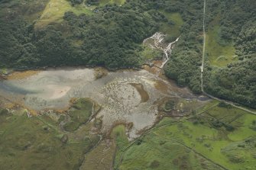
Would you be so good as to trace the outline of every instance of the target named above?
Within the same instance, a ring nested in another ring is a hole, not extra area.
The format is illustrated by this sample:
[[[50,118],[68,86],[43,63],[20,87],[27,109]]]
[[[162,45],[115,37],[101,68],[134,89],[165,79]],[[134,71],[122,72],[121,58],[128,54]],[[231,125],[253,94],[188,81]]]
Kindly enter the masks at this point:
[[[73,117],[74,111],[79,114]],[[11,112],[0,109],[0,167],[26,170],[256,168],[256,116],[230,105],[210,101],[196,107],[189,117],[164,117],[151,131],[130,142],[124,124],[100,137],[96,133],[100,131],[100,121],[87,122],[89,112],[97,111],[99,106],[92,106],[88,99],[76,100],[66,114],[47,112],[28,117],[26,109]],[[79,128],[68,133],[63,125],[70,121],[78,123]]]

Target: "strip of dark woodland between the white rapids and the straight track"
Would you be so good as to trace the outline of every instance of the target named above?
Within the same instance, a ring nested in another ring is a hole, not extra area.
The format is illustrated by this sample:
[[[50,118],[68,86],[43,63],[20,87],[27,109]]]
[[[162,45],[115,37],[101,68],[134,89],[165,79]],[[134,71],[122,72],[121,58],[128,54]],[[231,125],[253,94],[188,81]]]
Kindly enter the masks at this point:
[[[173,49],[170,62],[164,68],[170,79],[177,80],[178,85],[188,85],[192,91],[200,93],[200,68],[203,44],[203,1],[179,1],[167,5],[166,11],[179,12],[183,27],[177,46]]]

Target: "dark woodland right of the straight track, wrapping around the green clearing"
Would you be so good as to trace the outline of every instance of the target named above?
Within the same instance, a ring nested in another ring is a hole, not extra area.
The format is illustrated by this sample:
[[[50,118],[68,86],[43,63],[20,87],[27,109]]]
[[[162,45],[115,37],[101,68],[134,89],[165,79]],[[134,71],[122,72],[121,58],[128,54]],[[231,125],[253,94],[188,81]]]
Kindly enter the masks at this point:
[[[221,5],[221,43],[232,41],[238,61],[224,68],[206,67],[205,90],[256,108],[256,4],[225,1]]]

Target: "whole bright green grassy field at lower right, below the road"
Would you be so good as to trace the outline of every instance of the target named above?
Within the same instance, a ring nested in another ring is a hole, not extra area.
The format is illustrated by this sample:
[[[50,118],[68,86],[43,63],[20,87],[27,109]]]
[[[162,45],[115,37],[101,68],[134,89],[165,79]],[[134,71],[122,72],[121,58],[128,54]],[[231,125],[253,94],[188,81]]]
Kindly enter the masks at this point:
[[[256,116],[216,102],[200,110],[189,119],[161,120],[128,148],[119,168],[255,169]]]

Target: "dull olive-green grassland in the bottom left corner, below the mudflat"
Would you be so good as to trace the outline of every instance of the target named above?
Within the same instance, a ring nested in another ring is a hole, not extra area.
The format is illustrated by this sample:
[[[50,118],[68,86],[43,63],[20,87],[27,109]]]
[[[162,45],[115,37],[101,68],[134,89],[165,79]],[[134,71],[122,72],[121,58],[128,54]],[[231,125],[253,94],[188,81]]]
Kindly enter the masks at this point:
[[[0,166],[2,169],[74,169],[92,143],[63,143],[62,133],[41,120],[24,116],[1,117]]]

